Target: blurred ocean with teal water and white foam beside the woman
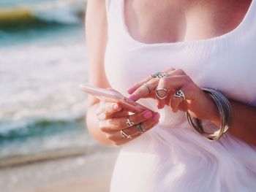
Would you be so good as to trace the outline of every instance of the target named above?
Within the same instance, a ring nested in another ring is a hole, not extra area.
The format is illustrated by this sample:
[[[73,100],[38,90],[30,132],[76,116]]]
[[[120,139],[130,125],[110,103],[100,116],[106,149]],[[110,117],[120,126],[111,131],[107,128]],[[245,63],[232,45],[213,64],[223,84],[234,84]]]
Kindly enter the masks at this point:
[[[0,1],[0,167],[94,153],[85,0]]]

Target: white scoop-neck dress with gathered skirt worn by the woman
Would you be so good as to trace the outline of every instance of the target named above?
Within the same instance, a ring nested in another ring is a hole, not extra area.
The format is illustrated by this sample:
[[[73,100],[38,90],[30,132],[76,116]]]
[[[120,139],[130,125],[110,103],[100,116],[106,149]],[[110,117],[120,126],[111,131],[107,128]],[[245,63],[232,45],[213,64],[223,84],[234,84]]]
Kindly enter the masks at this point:
[[[233,31],[192,42],[138,42],[124,23],[124,0],[107,0],[107,8],[105,72],[116,90],[127,95],[135,82],[171,66],[201,88],[256,106],[255,0]],[[190,128],[184,112],[140,102],[159,111],[160,123],[122,147],[110,191],[256,191],[255,146],[230,134],[209,142]]]

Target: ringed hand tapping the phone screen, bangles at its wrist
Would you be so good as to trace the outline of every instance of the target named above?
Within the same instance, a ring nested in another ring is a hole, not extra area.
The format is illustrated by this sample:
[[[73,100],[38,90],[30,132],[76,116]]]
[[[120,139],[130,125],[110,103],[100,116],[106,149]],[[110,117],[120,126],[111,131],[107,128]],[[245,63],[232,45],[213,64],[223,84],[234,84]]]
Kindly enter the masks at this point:
[[[170,106],[173,112],[189,112],[195,118],[217,122],[219,113],[211,98],[182,69],[167,69],[152,74],[128,89],[129,99],[153,98],[157,107]],[[184,95],[183,95],[184,94]]]

